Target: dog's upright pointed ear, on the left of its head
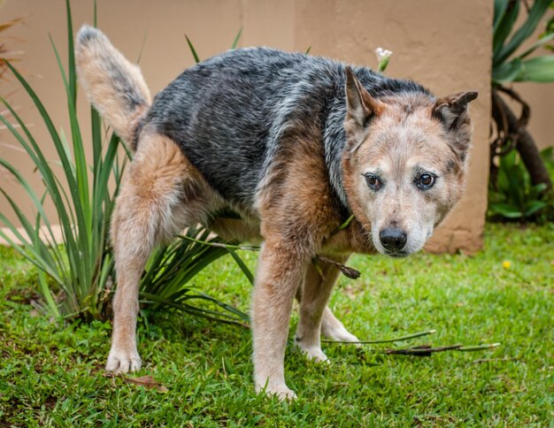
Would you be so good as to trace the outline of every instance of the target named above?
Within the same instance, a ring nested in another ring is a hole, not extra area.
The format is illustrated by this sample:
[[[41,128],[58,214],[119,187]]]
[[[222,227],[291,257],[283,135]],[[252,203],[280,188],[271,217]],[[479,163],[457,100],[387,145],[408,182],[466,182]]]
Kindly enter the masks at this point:
[[[367,92],[347,66],[346,73],[346,118],[344,128],[349,140],[349,151],[354,152],[364,141],[365,128],[374,116],[379,116],[383,104]]]

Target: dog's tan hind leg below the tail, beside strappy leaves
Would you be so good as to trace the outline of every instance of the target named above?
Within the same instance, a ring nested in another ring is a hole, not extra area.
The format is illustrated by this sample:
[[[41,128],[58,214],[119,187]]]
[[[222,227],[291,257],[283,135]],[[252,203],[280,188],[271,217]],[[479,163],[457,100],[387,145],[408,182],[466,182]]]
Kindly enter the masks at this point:
[[[106,370],[137,371],[138,287],[151,250],[202,212],[202,189],[181,150],[170,139],[146,134],[129,165],[112,218],[117,289],[113,298],[112,348]]]

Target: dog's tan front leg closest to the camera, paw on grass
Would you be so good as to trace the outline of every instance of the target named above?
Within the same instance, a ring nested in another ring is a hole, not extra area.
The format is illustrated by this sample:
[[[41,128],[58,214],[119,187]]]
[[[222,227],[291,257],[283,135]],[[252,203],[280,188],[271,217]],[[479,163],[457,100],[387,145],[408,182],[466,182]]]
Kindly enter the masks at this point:
[[[304,273],[304,258],[294,245],[265,241],[258,261],[252,305],[254,380],[257,392],[281,399],[296,394],[285,383],[284,357],[296,288]]]

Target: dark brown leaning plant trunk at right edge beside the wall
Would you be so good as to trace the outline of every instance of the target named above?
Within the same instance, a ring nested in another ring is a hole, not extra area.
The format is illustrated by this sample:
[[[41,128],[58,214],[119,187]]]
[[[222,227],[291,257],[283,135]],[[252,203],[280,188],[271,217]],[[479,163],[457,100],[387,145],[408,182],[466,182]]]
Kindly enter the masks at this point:
[[[508,107],[504,100],[498,96],[494,90],[492,92],[492,98],[492,117],[496,125],[502,129],[502,124],[505,121],[508,134],[518,135],[516,149],[518,149],[521,161],[525,164],[529,172],[531,182],[534,185],[544,183],[547,190],[550,190],[552,188],[550,174],[542,161],[541,153],[539,149],[537,149],[533,137],[527,132],[525,126],[519,126],[518,118],[516,118],[510,107]]]

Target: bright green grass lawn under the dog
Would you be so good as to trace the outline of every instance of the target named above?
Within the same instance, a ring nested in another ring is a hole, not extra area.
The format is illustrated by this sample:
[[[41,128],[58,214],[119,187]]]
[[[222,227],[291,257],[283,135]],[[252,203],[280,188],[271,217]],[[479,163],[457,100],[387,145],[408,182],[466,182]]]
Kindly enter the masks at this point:
[[[554,225],[488,225],[475,256],[355,256],[350,265],[361,278],[342,277],[330,304],[360,339],[437,330],[373,350],[502,346],[414,357],[324,344],[331,365],[289,347],[286,378],[299,398],[279,402],[254,394],[247,329],[164,311],[139,321],[136,375],[151,375],[163,392],[106,375],[109,322],[60,326],[37,316],[35,269],[0,248],[0,424],[552,424]],[[230,258],[195,285],[248,310],[250,286]]]

